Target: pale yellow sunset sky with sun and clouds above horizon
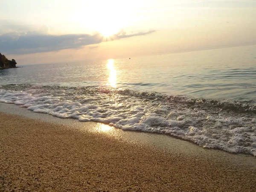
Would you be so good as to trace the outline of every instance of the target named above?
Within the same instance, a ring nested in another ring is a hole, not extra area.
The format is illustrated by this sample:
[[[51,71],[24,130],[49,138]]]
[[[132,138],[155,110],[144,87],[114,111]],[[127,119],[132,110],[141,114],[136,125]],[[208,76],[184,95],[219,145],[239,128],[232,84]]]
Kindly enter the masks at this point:
[[[18,64],[256,44],[256,0],[0,0],[0,52]]]

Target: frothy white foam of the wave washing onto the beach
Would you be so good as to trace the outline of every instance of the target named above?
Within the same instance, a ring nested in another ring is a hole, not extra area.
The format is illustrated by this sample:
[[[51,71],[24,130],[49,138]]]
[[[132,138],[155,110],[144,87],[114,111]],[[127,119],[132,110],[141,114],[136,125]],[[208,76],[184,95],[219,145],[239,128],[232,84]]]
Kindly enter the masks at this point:
[[[0,89],[0,102],[14,103],[37,113],[104,122],[123,130],[169,134],[203,147],[256,156],[256,119],[251,113],[229,113],[222,108],[216,112],[203,106],[203,100],[194,102],[199,107],[189,107],[182,98],[162,97],[104,88]],[[218,105],[227,107],[223,103]]]

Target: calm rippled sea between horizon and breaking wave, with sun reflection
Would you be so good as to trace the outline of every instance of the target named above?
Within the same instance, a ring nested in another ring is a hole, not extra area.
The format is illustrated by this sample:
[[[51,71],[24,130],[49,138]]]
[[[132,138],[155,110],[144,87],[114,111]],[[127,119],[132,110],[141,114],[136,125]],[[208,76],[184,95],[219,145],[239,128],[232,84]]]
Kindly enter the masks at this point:
[[[111,81],[111,82],[110,82]],[[193,98],[256,99],[256,46],[1,70],[0,85],[114,85]]]

